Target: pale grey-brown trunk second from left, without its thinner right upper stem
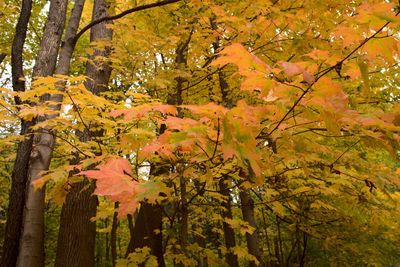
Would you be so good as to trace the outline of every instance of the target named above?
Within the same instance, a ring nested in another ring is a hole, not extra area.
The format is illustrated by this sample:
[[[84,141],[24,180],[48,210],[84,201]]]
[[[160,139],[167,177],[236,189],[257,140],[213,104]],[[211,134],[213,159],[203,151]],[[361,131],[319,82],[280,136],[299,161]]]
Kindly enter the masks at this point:
[[[46,77],[54,72],[65,26],[67,3],[67,0],[53,0],[51,2],[43,38],[33,68],[33,77]],[[33,138],[17,266],[44,265],[45,188],[34,191],[31,182],[39,179],[40,171],[48,169],[50,164],[49,155],[52,153],[54,140],[48,136],[50,135],[35,135]]]

